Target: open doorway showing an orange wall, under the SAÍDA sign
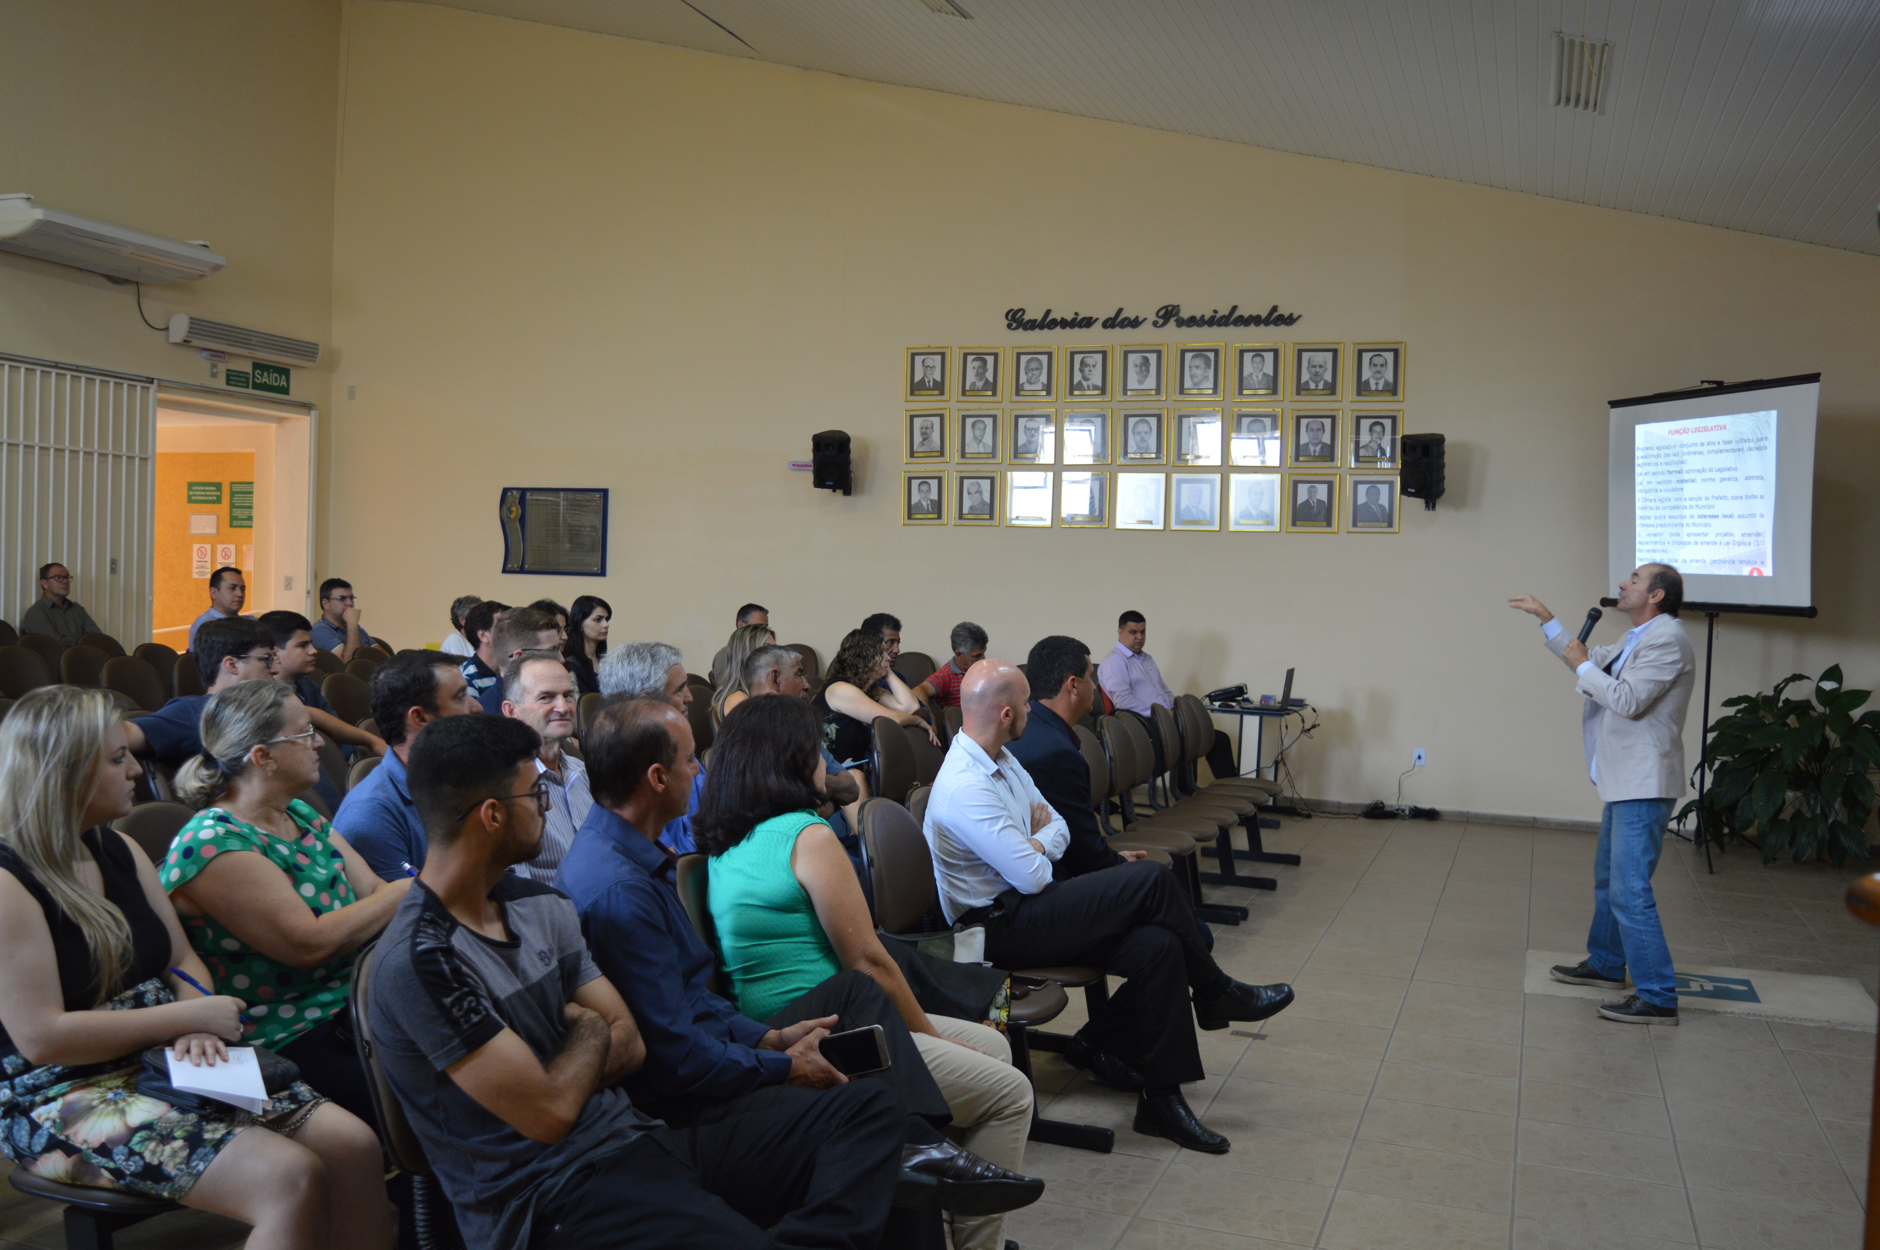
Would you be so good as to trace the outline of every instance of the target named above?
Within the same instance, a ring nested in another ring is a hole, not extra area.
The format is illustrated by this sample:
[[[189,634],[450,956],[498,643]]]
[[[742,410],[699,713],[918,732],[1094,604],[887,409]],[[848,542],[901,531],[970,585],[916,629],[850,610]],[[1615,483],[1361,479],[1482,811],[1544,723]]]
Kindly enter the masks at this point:
[[[188,648],[224,564],[248,585],[243,615],[308,611],[314,419],[301,406],[158,393],[152,641]]]

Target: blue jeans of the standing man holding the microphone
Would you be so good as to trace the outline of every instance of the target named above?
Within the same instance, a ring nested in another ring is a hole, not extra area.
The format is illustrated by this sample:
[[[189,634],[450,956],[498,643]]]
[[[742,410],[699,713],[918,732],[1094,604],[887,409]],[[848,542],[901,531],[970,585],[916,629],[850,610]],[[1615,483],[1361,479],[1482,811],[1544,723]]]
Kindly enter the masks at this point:
[[[1664,852],[1673,799],[1607,803],[1600,816],[1600,850],[1592,859],[1592,929],[1587,962],[1602,977],[1632,970],[1632,989],[1654,1008],[1675,1008],[1671,947],[1664,944],[1651,874]]]

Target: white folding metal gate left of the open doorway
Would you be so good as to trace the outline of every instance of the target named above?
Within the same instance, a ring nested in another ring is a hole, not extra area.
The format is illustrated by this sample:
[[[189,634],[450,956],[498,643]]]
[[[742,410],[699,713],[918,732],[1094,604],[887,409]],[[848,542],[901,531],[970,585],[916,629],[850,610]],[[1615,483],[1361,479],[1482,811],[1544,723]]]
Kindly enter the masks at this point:
[[[150,641],[154,451],[152,380],[0,357],[0,618],[56,560],[105,633]]]

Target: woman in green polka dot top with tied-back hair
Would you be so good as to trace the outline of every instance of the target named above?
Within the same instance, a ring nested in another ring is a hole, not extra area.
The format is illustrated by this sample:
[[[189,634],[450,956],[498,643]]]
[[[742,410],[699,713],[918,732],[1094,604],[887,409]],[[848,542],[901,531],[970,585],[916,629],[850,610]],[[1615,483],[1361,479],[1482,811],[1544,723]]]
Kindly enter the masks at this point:
[[[320,735],[290,686],[246,680],[203,707],[203,754],[177,773],[197,808],[158,872],[216,992],[246,1004],[244,1041],[301,1066],[316,1090],[372,1122],[350,1030],[353,953],[399,910],[410,878],[382,882],[314,808]]]

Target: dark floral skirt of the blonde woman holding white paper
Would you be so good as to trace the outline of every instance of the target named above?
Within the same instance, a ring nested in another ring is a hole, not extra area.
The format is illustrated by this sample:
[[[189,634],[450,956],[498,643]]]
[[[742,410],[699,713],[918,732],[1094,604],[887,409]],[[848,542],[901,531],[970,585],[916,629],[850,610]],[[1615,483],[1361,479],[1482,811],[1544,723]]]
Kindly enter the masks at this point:
[[[111,1011],[171,1002],[162,981],[128,989]],[[250,1124],[291,1133],[323,1100],[305,1081],[274,1094],[267,1111],[180,1111],[137,1092],[141,1056],[64,1068],[32,1066],[13,1047],[0,1055],[0,1154],[45,1180],[128,1190],[180,1201],[203,1169]]]

